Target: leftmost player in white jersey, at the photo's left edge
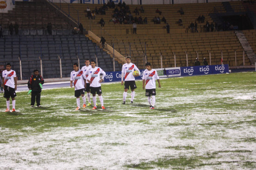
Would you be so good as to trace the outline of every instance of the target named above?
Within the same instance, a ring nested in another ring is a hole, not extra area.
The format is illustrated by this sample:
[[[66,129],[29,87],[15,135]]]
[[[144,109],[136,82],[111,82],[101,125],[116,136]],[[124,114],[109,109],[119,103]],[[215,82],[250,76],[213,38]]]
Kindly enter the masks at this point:
[[[12,112],[15,112],[15,97],[16,97],[16,92],[17,90],[17,76],[16,72],[13,71],[12,66],[10,63],[6,64],[6,70],[3,71],[3,85],[4,85],[4,97],[6,98],[6,105],[7,109],[5,112],[10,111],[10,97],[12,98],[13,102],[13,110]]]

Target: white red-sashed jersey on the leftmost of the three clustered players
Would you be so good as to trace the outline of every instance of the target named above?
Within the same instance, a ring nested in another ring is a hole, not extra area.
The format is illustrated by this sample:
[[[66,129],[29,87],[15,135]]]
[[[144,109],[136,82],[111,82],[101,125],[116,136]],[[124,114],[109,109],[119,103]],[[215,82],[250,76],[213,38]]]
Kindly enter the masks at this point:
[[[83,70],[72,71],[70,73],[70,81],[74,81],[74,90],[84,88]]]

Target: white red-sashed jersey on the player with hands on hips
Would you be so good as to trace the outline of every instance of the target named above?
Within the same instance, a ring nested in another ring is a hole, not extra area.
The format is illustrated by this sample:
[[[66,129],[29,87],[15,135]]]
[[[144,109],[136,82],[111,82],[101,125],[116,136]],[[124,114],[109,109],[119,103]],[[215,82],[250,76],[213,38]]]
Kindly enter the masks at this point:
[[[102,74],[102,77],[100,77],[100,74]],[[90,87],[101,87],[101,83],[99,81],[101,78],[104,80],[104,77],[106,76],[105,71],[103,71],[100,67],[91,68],[88,73],[87,80],[91,81]]]

